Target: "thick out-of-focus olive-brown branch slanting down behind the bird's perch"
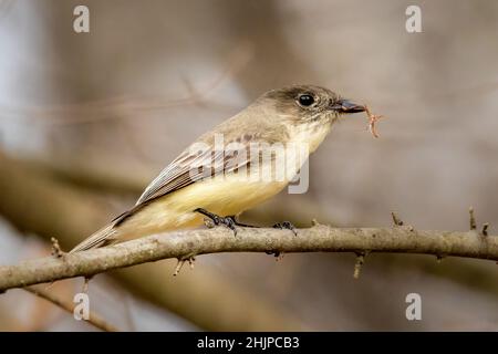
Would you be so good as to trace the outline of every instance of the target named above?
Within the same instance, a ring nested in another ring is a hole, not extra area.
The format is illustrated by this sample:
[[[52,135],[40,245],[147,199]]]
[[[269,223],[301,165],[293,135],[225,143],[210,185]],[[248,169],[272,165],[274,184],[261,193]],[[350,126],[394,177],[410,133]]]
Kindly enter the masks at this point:
[[[70,249],[116,214],[100,194],[77,188],[52,170],[32,166],[0,152],[0,215],[24,232],[48,241],[55,237]],[[34,206],[34,208],[30,208]],[[281,306],[228,281],[208,267],[188,277],[168,277],[174,264],[147,263],[111,272],[134,295],[210,331],[298,331],[303,324]],[[146,274],[146,277],[144,277]],[[243,303],[243,306],[240,304]],[[216,314],[216,315],[214,315]]]

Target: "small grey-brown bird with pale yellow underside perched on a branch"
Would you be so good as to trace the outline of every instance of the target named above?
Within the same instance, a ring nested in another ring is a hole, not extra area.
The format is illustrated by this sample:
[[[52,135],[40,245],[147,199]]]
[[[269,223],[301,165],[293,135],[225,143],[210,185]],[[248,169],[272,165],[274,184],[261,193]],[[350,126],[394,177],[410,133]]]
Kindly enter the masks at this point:
[[[133,208],[70,252],[198,227],[205,217],[236,231],[245,226],[237,217],[284,189],[342,115],[364,111],[364,105],[317,85],[268,91],[199,136],[145,188]],[[230,144],[238,147],[227,149]],[[274,178],[276,169],[284,165],[274,146],[290,145],[304,146],[305,156],[287,164],[292,167],[291,176],[286,169],[283,177]],[[261,178],[264,170],[270,171],[270,178]],[[279,226],[293,228],[290,222]]]

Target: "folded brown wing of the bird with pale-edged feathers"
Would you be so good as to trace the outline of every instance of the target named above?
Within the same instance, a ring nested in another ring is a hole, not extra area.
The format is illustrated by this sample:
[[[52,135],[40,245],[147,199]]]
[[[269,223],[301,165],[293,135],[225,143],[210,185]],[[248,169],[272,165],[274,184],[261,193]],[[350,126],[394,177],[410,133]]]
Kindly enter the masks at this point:
[[[255,136],[245,134],[235,140],[245,147],[243,154],[214,148],[196,154],[193,149],[186,149],[145,188],[136,206],[185,188],[198,180],[248,168],[251,159],[259,158],[259,154],[250,156],[249,142],[255,142],[253,138]]]

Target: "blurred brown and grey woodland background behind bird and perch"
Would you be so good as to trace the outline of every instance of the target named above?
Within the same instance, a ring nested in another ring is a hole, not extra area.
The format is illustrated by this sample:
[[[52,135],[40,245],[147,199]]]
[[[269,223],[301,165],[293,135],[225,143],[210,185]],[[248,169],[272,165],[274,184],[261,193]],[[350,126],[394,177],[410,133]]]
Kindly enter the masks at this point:
[[[90,9],[90,33],[73,10]],[[405,30],[409,4],[422,33]],[[0,263],[70,249],[134,204],[190,140],[267,90],[330,87],[387,118],[343,119],[310,190],[245,215],[344,227],[498,225],[498,2],[0,1]],[[371,254],[211,254],[100,274],[92,310],[121,330],[497,331],[494,262]],[[50,291],[69,301],[83,280]],[[422,296],[407,321],[405,296]],[[22,290],[0,330],[96,331]]]

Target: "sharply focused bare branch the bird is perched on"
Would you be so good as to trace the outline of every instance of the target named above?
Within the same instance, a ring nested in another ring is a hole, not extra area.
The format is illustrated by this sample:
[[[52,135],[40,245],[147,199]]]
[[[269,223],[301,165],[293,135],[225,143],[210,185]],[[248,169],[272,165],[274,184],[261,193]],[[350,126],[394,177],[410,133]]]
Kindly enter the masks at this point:
[[[476,231],[422,231],[412,227],[332,228],[315,225],[289,230],[224,228],[160,233],[112,247],[28,260],[0,267],[0,291],[73,277],[91,277],[166,258],[186,259],[218,252],[401,252],[498,261],[498,237]]]

